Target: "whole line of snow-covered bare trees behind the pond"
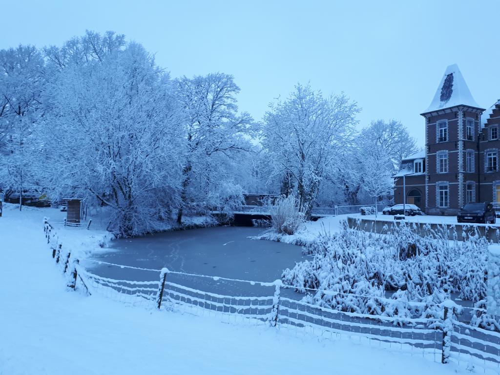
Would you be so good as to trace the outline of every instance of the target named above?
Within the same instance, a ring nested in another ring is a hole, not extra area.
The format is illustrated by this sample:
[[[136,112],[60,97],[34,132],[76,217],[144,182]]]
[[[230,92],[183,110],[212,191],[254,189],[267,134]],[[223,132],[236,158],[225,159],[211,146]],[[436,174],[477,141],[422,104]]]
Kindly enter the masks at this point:
[[[230,74],[172,78],[112,31],[0,50],[0,189],[106,205],[134,235],[230,213],[243,192],[293,193],[306,215],[364,202],[416,148],[395,120],[356,131],[343,93],[297,84],[259,122],[238,92]]]

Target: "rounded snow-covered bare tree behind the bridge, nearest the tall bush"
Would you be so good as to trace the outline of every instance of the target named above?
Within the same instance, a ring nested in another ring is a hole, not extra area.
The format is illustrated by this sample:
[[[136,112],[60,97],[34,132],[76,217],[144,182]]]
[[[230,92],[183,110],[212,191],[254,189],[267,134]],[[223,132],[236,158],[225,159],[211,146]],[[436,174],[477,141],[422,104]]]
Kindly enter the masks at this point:
[[[291,176],[306,218],[327,170],[343,168],[341,155],[354,134],[357,112],[357,104],[343,93],[324,98],[309,85],[297,84],[264,116],[262,144],[270,158],[270,176]]]

